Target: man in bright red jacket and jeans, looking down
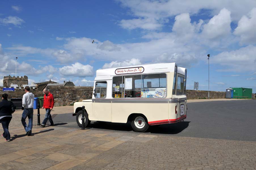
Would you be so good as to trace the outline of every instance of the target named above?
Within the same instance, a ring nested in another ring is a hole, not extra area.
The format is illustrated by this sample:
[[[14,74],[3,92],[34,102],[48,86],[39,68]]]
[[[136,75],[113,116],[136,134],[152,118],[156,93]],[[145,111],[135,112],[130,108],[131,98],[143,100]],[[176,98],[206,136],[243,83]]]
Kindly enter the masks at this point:
[[[45,108],[46,113],[45,113],[45,119],[43,120],[40,126],[45,127],[48,119],[50,121],[50,126],[54,126],[54,123],[52,121],[52,116],[51,116],[51,110],[54,106],[54,98],[53,98],[53,95],[46,88],[43,90],[43,93],[45,95],[44,95],[44,104],[42,109]]]

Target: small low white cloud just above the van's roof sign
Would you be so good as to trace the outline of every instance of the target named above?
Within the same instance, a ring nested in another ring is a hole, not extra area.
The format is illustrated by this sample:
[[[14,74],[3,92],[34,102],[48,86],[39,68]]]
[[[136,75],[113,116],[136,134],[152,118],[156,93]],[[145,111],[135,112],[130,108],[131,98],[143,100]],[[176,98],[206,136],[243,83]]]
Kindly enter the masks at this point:
[[[139,65],[141,62],[139,59],[132,58],[131,60],[125,61],[112,61],[111,63],[105,63],[102,69],[115,68],[115,67],[125,67],[131,65]]]

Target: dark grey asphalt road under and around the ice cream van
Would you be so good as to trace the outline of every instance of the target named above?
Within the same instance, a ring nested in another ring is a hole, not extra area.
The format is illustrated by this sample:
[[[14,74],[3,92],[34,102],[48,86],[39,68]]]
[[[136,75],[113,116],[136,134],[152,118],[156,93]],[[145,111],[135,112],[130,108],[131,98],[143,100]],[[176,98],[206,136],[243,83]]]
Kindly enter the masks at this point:
[[[188,103],[187,119],[183,122],[150,126],[146,134],[256,141],[255,121],[256,100],[196,102]],[[80,129],[71,113],[56,115],[54,123]],[[137,133],[130,123],[92,122],[90,128]]]

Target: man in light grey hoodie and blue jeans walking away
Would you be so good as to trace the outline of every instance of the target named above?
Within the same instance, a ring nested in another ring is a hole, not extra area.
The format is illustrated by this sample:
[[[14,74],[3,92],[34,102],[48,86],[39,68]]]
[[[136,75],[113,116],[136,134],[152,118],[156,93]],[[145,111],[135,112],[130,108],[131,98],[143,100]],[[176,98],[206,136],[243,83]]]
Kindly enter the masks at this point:
[[[22,97],[22,106],[24,107],[24,111],[21,117],[21,123],[25,128],[26,135],[31,136],[32,126],[33,126],[33,106],[34,106],[34,95],[30,93],[29,86],[25,87],[25,94]],[[26,124],[26,118],[28,117],[28,126]]]

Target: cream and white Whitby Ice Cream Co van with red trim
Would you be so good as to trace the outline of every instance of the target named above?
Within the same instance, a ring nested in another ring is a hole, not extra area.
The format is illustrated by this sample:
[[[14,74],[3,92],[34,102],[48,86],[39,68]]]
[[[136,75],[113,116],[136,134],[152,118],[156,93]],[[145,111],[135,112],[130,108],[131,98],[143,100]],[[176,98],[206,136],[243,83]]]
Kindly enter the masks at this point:
[[[74,103],[77,124],[93,121],[127,123],[145,132],[151,125],[176,123],[187,117],[187,69],[176,63],[159,63],[100,69],[92,99]]]

